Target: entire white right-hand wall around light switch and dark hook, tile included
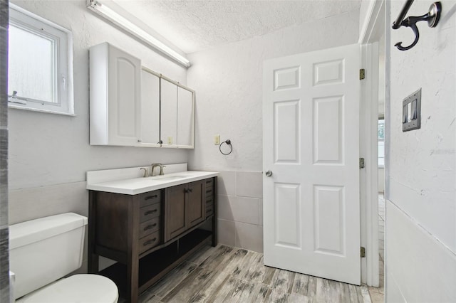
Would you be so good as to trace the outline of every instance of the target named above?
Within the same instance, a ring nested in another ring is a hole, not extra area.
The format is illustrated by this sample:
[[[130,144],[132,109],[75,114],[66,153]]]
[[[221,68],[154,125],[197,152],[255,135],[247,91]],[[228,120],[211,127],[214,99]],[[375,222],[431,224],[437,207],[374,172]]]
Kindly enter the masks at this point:
[[[404,3],[387,4],[390,24]],[[429,6],[415,1],[408,15]],[[393,46],[413,41],[410,28],[387,28],[387,302],[456,301],[456,3],[444,0],[442,8],[437,28],[418,24],[420,41],[411,50]],[[404,133],[402,100],[420,87],[421,129]]]

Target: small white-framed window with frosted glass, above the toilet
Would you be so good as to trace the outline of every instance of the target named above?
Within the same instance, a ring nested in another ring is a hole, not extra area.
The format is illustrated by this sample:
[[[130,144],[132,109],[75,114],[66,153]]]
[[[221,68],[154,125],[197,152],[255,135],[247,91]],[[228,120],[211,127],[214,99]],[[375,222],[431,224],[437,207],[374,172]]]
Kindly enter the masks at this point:
[[[71,32],[10,4],[9,107],[74,115]]]

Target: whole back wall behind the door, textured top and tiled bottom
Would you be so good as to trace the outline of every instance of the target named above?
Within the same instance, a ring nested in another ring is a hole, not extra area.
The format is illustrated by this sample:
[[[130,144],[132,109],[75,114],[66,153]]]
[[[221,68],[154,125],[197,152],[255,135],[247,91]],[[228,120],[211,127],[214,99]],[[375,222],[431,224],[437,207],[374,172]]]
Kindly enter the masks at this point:
[[[189,55],[193,65],[188,85],[197,91],[195,150],[190,151],[189,166],[221,172],[220,243],[263,249],[263,61],[356,43],[358,14],[351,11]],[[232,141],[232,154],[219,152],[215,134]]]

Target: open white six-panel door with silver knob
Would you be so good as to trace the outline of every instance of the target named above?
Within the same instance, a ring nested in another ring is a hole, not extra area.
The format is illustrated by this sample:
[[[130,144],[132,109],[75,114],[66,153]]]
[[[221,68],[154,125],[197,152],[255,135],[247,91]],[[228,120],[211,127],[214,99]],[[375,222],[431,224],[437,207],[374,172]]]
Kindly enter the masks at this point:
[[[359,285],[356,45],[264,63],[264,264]]]

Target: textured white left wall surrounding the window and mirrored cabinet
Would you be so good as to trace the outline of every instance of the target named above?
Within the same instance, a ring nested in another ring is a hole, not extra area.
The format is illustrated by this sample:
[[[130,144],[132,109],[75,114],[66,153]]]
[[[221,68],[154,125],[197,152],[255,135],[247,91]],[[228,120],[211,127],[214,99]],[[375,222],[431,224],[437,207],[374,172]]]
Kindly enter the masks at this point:
[[[111,26],[78,1],[13,1],[73,32],[76,117],[9,110],[11,189],[86,180],[86,171],[187,161],[187,151],[135,147],[91,147],[89,142],[88,48],[108,41],[142,59],[142,65],[187,82],[187,70]]]

